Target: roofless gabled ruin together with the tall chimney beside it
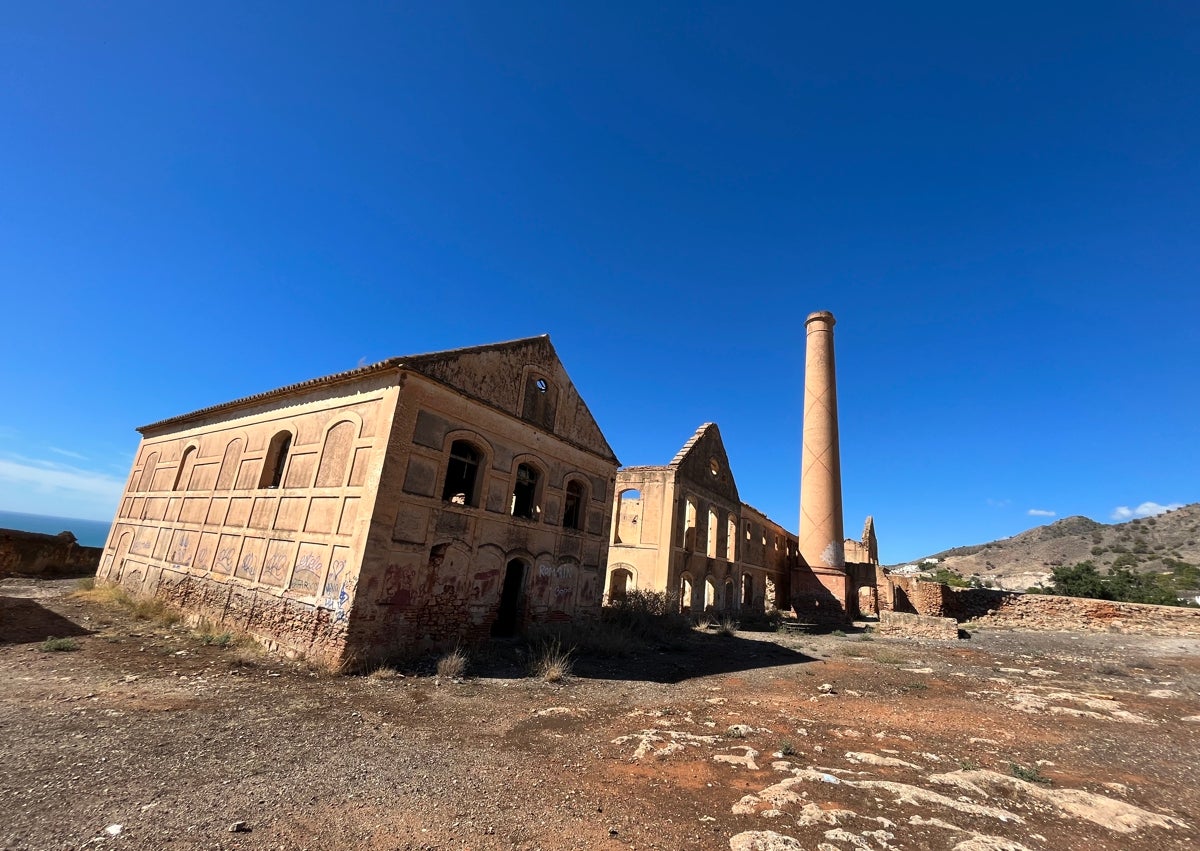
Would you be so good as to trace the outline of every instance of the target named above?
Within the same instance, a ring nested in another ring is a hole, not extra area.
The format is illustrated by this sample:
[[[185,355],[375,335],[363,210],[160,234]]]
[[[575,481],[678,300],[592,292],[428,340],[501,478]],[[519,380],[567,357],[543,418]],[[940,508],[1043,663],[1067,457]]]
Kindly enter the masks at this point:
[[[610,600],[666,592],[692,615],[778,607],[834,624],[878,611],[875,521],[858,541],[842,535],[833,326],[826,311],[805,323],[799,535],[742,502],[720,430],[706,422],[671,463],[617,472]]]

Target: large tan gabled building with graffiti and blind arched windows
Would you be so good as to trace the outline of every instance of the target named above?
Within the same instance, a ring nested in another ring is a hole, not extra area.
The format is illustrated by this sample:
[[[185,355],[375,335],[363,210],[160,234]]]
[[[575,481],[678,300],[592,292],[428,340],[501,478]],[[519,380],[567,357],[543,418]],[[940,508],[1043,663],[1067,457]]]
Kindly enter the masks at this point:
[[[617,459],[550,337],[174,416],[97,579],[332,666],[594,617]]]

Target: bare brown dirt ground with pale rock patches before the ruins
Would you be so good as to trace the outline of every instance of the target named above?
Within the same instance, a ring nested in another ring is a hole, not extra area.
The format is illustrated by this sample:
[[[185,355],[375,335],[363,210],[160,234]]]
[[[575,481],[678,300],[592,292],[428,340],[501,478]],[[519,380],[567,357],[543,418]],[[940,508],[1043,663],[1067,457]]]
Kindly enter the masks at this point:
[[[1194,849],[1200,641],[719,636],[334,677],[0,583],[5,849]],[[47,652],[47,636],[79,649]]]

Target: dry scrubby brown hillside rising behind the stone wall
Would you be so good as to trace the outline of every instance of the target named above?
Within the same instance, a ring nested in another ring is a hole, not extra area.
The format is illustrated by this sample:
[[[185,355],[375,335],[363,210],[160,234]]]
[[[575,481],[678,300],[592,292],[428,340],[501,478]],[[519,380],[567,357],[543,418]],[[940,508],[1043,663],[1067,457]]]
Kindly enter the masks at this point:
[[[1200,564],[1200,503],[1123,523],[1064,517],[1012,538],[956,546],[929,558],[967,579],[990,580],[1013,591],[1045,582],[1054,568],[1079,562],[1094,562],[1100,569],[1117,562],[1135,570],[1166,571],[1171,565],[1164,558]]]

